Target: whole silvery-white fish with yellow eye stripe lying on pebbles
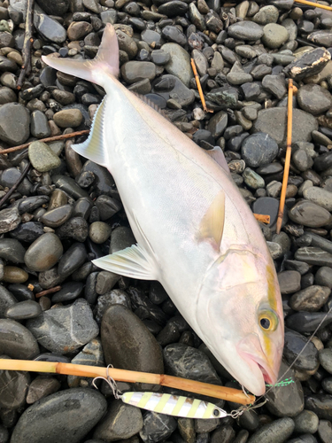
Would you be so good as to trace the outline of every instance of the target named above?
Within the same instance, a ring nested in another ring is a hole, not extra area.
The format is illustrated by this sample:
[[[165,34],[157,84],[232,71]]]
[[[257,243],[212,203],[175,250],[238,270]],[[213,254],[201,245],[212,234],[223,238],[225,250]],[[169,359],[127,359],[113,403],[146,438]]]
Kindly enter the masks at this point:
[[[72,148],[110,171],[136,244],[93,262],[160,282],[229,374],[263,395],[282,360],[281,292],[259,224],[222,150],[200,148],[118,80],[111,24],[93,60],[42,60],[106,93],[88,139]]]

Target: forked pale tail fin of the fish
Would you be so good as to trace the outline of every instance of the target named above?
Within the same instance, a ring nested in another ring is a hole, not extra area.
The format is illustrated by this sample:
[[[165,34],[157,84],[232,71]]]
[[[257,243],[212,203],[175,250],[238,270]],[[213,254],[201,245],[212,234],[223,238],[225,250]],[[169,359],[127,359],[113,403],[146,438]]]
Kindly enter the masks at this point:
[[[107,75],[119,75],[119,45],[115,29],[111,23],[107,23],[102,43],[100,43],[97,56],[93,60],[42,56],[42,61],[65,74],[71,74],[104,86]]]

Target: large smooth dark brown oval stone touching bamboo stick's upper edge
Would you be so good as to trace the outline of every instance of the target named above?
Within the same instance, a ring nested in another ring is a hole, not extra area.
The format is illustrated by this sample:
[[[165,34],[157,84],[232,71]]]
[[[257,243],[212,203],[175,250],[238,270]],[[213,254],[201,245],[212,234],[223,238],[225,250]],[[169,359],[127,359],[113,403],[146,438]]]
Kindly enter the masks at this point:
[[[161,374],[163,358],[156,338],[141,320],[121,305],[103,315],[101,338],[106,364],[116,368]]]

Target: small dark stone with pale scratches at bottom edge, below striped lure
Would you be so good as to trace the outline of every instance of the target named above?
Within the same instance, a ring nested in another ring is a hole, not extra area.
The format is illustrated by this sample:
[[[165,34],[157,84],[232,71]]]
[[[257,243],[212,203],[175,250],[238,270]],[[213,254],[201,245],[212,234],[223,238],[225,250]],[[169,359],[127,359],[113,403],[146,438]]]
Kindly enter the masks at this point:
[[[147,412],[144,415],[143,429],[140,432],[140,437],[144,443],[158,443],[170,437],[176,427],[176,420],[173,416],[166,416],[157,412]]]

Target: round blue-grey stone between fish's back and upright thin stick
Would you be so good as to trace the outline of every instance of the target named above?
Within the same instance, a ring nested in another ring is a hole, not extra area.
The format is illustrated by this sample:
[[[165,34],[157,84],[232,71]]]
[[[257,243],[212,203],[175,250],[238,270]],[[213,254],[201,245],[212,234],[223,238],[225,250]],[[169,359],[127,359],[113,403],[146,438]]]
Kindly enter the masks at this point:
[[[247,137],[241,147],[242,158],[249,167],[272,163],[278,154],[278,144],[264,132]]]

